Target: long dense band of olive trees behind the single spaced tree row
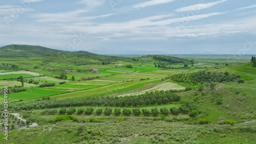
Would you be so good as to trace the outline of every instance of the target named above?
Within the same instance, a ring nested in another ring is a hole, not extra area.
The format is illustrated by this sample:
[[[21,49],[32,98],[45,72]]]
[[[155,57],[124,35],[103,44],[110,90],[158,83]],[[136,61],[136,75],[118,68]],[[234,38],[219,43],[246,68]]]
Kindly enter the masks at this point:
[[[13,109],[44,109],[44,108],[60,108],[60,107],[77,107],[77,106],[115,106],[115,107],[129,107],[129,106],[148,106],[148,105],[162,105],[172,102],[179,102],[180,96],[172,91],[155,91],[147,92],[141,95],[131,97],[97,97],[84,98],[73,100],[36,100],[26,104],[11,103],[10,108]]]

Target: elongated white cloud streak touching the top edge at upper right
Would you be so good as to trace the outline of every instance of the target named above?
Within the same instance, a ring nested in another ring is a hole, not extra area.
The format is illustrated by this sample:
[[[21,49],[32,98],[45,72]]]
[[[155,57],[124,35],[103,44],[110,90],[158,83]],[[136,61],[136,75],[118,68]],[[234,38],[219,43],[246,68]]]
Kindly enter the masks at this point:
[[[213,7],[213,6],[217,5],[217,4],[220,4],[220,3],[223,3],[223,2],[226,2],[226,1],[227,0],[221,0],[221,1],[217,1],[217,2],[191,5],[191,6],[187,6],[187,7],[176,9],[175,11],[176,12],[197,11],[197,10],[202,10],[202,9]]]

